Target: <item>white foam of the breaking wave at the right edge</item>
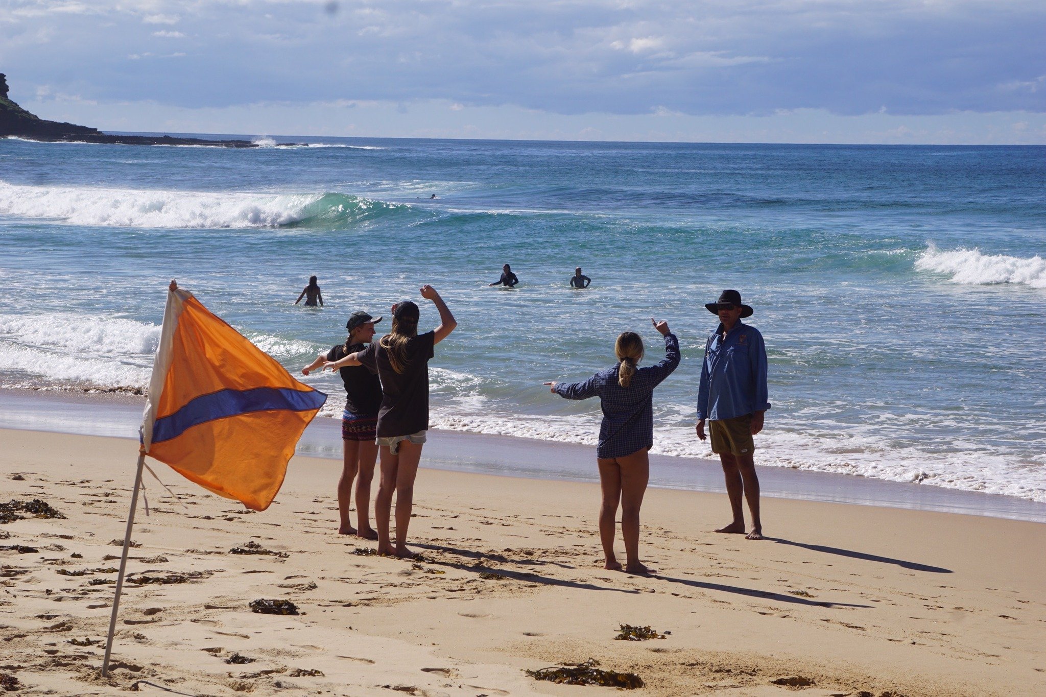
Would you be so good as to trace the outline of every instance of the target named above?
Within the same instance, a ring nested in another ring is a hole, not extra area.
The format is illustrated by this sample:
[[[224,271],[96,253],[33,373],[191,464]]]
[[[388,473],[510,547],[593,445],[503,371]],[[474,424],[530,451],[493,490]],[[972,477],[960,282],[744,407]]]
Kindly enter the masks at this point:
[[[1020,283],[1033,288],[1046,288],[1046,259],[1038,254],[1030,258],[1005,254],[982,254],[977,248],[942,251],[930,245],[915,268],[949,274],[953,283],[965,285],[992,285]]]

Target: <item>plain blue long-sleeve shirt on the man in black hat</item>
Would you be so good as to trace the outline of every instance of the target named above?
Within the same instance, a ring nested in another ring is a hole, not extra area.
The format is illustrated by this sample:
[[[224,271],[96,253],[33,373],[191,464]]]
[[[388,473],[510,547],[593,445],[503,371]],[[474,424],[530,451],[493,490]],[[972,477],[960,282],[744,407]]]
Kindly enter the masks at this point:
[[[705,344],[698,419],[719,421],[768,409],[767,346],[763,334],[737,320],[724,340],[720,324]]]

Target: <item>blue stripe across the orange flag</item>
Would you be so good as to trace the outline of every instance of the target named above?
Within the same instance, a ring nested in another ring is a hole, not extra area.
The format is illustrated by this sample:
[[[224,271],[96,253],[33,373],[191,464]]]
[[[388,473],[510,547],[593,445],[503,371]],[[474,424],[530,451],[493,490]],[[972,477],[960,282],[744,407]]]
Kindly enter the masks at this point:
[[[319,409],[326,401],[326,395],[316,390],[254,388],[253,390],[222,390],[191,400],[169,416],[157,419],[153,424],[153,442],[177,438],[186,428],[251,412],[288,410],[308,412]]]

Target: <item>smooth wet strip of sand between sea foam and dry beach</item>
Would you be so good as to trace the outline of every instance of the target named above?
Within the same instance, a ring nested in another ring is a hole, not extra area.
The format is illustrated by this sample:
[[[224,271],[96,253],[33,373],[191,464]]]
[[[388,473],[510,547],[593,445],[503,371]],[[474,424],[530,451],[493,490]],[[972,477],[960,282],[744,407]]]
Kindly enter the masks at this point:
[[[129,393],[0,389],[0,429],[135,439],[144,399]],[[316,418],[296,455],[341,458],[337,419]],[[652,455],[652,488],[724,493],[718,462]],[[597,482],[594,448],[576,443],[431,429],[422,466],[529,480]],[[761,495],[1046,522],[1046,503],[932,485],[756,466]],[[728,514],[724,499],[723,515]]]

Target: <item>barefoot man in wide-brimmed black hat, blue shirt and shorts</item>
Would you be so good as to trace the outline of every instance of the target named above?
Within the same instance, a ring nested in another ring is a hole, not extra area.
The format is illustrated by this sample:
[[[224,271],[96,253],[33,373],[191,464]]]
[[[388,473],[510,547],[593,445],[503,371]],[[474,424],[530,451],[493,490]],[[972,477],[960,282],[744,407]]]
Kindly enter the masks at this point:
[[[718,315],[720,325],[708,336],[701,365],[698,391],[698,438],[705,440],[705,421],[712,439],[712,452],[723,463],[726,492],[733,521],[718,533],[745,532],[742,495],[748,501],[752,529],[748,539],[763,539],[759,519],[759,480],[752,459],[752,436],[763,431],[767,401],[767,347],[755,327],[744,324],[752,308],[742,304],[741,294],[724,291],[717,302],[705,305]]]

